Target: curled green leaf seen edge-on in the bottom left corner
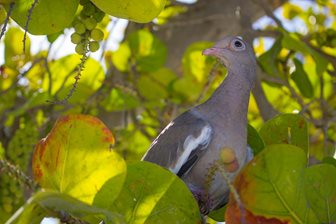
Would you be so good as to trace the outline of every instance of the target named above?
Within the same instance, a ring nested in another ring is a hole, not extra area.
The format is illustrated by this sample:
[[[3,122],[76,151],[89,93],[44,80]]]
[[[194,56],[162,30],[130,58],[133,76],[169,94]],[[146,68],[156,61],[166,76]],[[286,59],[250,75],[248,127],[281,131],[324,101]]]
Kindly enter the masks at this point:
[[[34,194],[6,224],[39,224],[44,217],[57,217],[57,212],[66,212],[90,223],[99,223],[103,219],[107,223],[123,223],[119,214],[85,204],[66,194],[40,191]]]

